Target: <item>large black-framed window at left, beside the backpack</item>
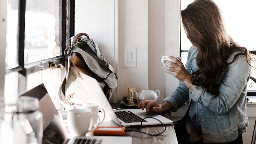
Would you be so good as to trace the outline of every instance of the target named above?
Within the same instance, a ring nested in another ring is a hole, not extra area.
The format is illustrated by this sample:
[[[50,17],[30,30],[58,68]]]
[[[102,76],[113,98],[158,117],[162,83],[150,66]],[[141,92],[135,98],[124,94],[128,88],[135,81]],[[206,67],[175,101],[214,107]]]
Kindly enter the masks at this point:
[[[6,101],[41,83],[58,101],[63,70],[50,69],[49,64],[65,62],[67,37],[74,34],[73,11],[69,0],[7,0]]]

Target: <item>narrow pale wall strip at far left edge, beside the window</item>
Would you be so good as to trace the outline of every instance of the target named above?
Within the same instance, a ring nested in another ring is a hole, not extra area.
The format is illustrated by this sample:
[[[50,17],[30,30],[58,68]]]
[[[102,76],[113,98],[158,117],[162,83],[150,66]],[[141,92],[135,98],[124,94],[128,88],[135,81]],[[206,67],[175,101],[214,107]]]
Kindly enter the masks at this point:
[[[4,99],[7,0],[0,1],[0,99]]]

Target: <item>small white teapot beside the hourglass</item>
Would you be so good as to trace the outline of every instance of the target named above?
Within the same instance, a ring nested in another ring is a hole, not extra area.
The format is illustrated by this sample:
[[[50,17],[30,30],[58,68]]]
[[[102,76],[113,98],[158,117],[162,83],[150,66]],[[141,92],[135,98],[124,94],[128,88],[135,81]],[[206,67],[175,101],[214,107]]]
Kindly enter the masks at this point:
[[[141,90],[139,93],[137,93],[136,91],[134,91],[134,93],[139,102],[143,100],[157,100],[160,96],[159,90]]]

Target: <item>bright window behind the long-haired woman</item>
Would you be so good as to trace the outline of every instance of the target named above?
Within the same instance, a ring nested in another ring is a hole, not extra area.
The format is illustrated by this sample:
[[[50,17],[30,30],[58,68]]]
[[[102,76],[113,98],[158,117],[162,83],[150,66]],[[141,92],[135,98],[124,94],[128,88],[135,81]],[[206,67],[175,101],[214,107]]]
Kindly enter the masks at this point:
[[[185,9],[188,4],[194,0],[181,0],[181,10]],[[235,39],[240,45],[246,47],[251,53],[256,53],[255,48],[255,14],[254,8],[256,1],[243,0],[243,1],[231,1],[231,0],[214,0],[216,4],[221,8],[225,24],[228,33],[233,39]],[[187,39],[181,23],[181,59],[185,64],[187,61],[187,52],[191,46],[191,42]],[[255,69],[252,69],[252,76],[256,77]],[[251,80],[247,86],[248,92],[256,90],[256,85]]]

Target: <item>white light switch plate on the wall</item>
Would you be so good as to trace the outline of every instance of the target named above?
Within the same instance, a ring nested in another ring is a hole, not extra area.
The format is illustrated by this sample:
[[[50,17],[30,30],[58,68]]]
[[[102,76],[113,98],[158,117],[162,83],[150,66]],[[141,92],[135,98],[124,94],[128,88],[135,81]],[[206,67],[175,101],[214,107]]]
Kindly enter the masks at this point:
[[[136,47],[124,47],[124,67],[137,67]]]

